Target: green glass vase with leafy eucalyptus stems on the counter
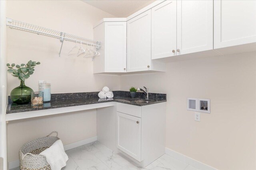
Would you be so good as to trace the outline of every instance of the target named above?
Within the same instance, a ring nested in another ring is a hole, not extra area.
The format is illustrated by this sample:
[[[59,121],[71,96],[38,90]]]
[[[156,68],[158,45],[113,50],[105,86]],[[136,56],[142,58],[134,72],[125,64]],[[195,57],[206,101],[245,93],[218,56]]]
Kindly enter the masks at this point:
[[[25,85],[25,79],[29,78],[34,73],[34,67],[38,64],[40,64],[40,62],[30,60],[27,64],[16,65],[14,63],[8,63],[6,65],[8,67],[7,71],[20,80],[20,86],[11,91],[10,97],[12,102],[16,104],[28,104],[30,102],[31,92],[34,91],[32,88]]]

